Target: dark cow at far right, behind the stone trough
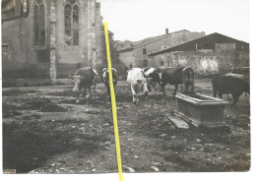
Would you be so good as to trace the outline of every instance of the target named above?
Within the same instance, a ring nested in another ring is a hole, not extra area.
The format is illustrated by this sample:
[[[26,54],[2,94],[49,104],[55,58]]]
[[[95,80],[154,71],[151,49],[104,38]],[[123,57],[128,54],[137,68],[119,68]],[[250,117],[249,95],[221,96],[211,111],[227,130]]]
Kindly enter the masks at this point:
[[[223,98],[223,94],[231,93],[233,102],[230,107],[236,108],[236,102],[238,97],[243,93],[247,92],[250,94],[250,86],[246,78],[239,74],[225,74],[212,80],[214,97],[219,94],[220,98]]]

